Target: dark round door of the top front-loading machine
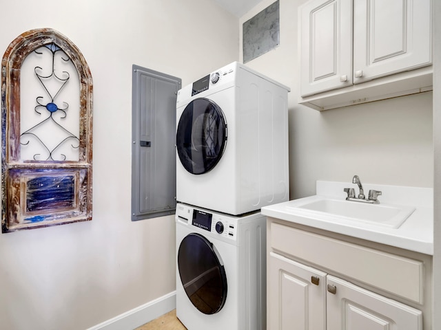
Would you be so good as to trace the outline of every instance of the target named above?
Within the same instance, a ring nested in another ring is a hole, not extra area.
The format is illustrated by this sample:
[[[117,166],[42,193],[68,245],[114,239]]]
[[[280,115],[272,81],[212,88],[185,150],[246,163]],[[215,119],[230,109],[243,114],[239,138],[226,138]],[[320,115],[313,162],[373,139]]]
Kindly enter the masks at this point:
[[[218,164],[227,144],[227,123],[222,110],[207,98],[185,107],[176,131],[176,148],[184,168],[203,174]]]

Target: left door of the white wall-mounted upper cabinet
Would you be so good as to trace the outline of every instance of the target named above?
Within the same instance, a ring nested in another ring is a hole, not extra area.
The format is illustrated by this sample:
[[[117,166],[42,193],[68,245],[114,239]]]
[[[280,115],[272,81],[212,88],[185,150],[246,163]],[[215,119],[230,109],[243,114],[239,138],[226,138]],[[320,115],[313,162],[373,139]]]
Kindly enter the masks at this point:
[[[352,85],[352,0],[312,0],[299,8],[300,94]]]

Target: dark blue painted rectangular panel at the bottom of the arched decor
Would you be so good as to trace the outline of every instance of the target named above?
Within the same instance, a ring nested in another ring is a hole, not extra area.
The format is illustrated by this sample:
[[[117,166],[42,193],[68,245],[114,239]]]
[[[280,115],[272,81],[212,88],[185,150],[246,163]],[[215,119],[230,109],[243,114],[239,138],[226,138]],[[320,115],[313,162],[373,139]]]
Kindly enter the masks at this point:
[[[75,206],[75,178],[36,177],[26,183],[26,211],[59,210]]]

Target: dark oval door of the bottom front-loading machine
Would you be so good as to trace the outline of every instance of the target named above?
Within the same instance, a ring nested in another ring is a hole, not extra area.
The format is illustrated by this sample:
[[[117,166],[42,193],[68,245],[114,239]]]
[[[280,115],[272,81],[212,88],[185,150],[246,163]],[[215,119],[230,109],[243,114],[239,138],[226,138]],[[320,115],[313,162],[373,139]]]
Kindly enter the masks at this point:
[[[225,268],[204,236],[188,234],[178,250],[178,270],[189,300],[203,314],[215,314],[227,298]]]

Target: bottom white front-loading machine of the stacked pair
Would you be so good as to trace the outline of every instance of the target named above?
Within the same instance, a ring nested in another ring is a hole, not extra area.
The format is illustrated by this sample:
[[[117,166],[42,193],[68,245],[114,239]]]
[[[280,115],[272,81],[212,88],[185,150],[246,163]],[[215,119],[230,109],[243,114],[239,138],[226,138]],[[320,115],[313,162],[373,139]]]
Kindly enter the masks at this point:
[[[176,316],[189,330],[266,329],[266,217],[176,205]]]

